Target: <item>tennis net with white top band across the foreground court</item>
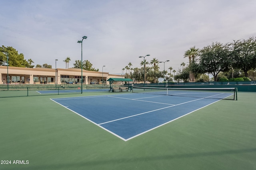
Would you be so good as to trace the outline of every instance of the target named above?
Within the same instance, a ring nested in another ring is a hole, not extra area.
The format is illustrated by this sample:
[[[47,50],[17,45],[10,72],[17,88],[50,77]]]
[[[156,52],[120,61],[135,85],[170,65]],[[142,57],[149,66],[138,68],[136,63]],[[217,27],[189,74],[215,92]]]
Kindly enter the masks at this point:
[[[237,100],[237,88],[158,88],[133,86],[133,93]]]

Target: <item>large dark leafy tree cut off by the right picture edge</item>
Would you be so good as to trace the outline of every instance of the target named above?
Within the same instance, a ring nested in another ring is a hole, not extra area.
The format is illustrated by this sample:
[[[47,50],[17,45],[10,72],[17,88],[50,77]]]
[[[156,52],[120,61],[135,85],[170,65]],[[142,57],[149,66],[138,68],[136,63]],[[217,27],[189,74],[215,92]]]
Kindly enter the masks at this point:
[[[234,41],[231,46],[233,47],[232,66],[243,70],[244,75],[248,77],[248,70],[256,68],[256,37]]]

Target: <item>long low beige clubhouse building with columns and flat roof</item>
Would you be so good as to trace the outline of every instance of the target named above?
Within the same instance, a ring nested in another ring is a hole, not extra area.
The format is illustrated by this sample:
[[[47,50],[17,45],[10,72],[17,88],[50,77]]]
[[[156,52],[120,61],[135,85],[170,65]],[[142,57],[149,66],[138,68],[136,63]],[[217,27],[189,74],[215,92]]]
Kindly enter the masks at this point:
[[[109,82],[106,81],[108,78],[122,78],[122,75],[83,70],[83,84],[102,84],[102,82],[108,84]],[[0,80],[2,84],[81,84],[82,77],[80,68],[0,66]]]

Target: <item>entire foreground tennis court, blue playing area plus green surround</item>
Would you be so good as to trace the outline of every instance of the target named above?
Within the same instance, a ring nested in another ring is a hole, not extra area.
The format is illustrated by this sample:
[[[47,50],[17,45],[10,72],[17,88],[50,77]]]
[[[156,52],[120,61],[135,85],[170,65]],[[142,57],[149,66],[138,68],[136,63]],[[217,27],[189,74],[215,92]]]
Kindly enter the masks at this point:
[[[0,169],[255,170],[256,93],[238,92],[238,100],[182,93],[0,98],[0,160],[29,161]]]

